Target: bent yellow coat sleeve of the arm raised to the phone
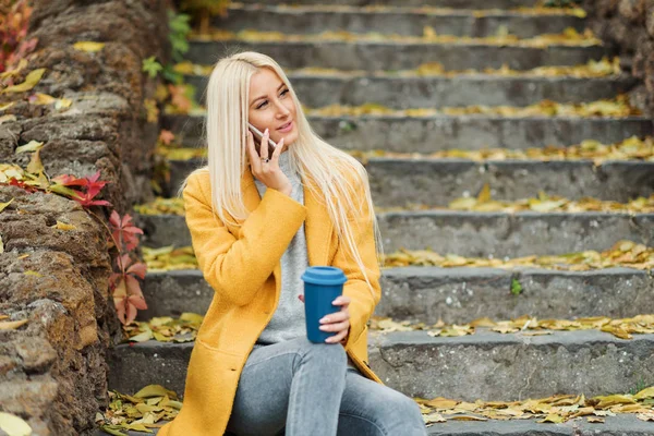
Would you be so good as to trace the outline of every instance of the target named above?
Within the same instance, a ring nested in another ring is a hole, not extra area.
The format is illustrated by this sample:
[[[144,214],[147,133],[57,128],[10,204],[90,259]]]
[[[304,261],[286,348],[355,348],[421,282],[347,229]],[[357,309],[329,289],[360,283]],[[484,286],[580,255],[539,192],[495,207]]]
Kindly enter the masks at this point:
[[[186,226],[205,280],[225,300],[243,306],[272,274],[306,218],[306,208],[281,192],[267,189],[237,239],[211,210],[197,177],[183,191]]]

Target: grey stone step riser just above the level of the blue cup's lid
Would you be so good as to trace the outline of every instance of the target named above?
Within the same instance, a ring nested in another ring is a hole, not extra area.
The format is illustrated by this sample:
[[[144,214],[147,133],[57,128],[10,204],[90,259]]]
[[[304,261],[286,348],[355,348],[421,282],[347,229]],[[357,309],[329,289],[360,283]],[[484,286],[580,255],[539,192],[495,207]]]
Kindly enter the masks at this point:
[[[432,246],[441,254],[494,257],[603,251],[622,239],[654,246],[654,214],[476,213],[458,210],[377,214],[387,253]],[[148,246],[191,245],[184,217],[141,215]]]

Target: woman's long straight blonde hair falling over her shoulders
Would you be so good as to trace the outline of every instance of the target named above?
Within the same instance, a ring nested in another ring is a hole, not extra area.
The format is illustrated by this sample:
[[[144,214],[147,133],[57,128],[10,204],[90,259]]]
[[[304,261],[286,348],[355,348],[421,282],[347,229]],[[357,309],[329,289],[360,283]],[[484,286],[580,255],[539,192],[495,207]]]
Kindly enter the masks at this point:
[[[373,286],[354,240],[353,229],[348,221],[348,210],[363,214],[363,207],[366,206],[373,220],[377,254],[384,252],[367,172],[361,162],[327,144],[311,129],[289,78],[281,66],[266,55],[246,51],[220,59],[215,64],[207,86],[207,117],[204,129],[206,135],[204,140],[208,147],[208,165],[189,174],[180,186],[178,195],[182,195],[189,178],[197,172],[208,171],[214,214],[217,214],[222,222],[228,222],[229,219],[225,211],[240,220],[247,218],[250,211],[243,202],[241,178],[243,171],[247,170],[245,134],[250,80],[263,68],[277,73],[289,88],[290,96],[298,108],[295,120],[298,138],[284,152],[290,155],[291,169],[300,174],[303,184],[307,177],[314,182],[308,184],[311,192],[325,202],[323,204],[327,207],[339,241],[344,242],[348,255],[356,262],[373,292]],[[359,177],[364,187],[363,198],[347,178],[347,174],[352,173]],[[317,185],[318,192],[315,192],[314,184]],[[231,223],[239,226],[238,222]],[[376,261],[380,265],[380,257]]]

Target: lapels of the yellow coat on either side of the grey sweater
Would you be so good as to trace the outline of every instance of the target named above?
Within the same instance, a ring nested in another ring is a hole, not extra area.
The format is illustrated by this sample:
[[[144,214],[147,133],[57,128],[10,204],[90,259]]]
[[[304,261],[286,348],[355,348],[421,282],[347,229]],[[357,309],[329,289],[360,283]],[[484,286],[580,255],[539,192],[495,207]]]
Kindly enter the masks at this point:
[[[310,266],[327,265],[329,258],[329,244],[331,243],[331,232],[334,225],[329,218],[326,206],[322,199],[316,197],[310,189],[310,184],[315,186],[311,179],[303,180],[304,185],[304,206],[306,207],[306,220],[304,221],[304,234],[306,237],[306,251],[308,255]],[[252,171],[247,168],[243,172],[241,179],[243,187],[243,201],[249,210],[254,210],[262,198],[254,183]],[[317,190],[317,187],[316,187]],[[278,276],[280,268],[275,268],[275,278]]]

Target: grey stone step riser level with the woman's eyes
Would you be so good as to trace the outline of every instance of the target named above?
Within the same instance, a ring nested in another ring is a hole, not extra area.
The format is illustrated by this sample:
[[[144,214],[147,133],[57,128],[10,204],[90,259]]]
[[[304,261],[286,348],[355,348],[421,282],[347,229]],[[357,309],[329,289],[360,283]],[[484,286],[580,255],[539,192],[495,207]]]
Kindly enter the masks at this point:
[[[290,74],[289,78],[303,105],[361,106],[377,104],[393,109],[457,106],[529,106],[549,99],[584,102],[614,98],[629,92],[635,80],[628,76],[580,78],[569,76],[459,75],[400,77],[353,74]],[[204,104],[207,78],[190,75]]]

